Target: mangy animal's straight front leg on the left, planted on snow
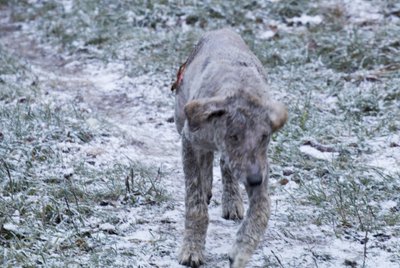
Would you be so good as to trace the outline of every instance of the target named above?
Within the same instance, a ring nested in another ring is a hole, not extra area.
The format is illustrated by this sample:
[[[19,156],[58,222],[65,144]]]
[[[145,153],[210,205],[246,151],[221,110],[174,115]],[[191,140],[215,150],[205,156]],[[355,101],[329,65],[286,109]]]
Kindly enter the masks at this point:
[[[185,173],[185,234],[179,263],[199,267],[204,263],[204,245],[208,227],[208,201],[212,185],[213,153],[192,147],[182,137]]]

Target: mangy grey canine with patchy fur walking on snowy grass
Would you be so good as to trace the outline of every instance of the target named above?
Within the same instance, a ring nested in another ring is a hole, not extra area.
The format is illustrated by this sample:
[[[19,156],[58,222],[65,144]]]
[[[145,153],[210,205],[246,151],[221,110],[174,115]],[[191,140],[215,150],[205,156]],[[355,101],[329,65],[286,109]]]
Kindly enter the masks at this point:
[[[186,191],[179,263],[204,264],[213,160],[219,152],[222,217],[243,218],[240,183],[249,197],[229,253],[231,268],[245,267],[270,217],[267,150],[271,135],[287,121],[287,109],[269,97],[261,62],[231,29],[211,31],[200,39],[172,89]]]

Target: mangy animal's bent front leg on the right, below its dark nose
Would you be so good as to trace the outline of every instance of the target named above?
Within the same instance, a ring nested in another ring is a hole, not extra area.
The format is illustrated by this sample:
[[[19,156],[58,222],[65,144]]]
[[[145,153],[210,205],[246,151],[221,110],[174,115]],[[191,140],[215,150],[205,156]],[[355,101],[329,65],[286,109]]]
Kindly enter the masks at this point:
[[[259,186],[246,186],[249,195],[249,209],[236,235],[236,243],[229,256],[231,268],[243,268],[264,236],[270,217],[271,200],[267,183]]]

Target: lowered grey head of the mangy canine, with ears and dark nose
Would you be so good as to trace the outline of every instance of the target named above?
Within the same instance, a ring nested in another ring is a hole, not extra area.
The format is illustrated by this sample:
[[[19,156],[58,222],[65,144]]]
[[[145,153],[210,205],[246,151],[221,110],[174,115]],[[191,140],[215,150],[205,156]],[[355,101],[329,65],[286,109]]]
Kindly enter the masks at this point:
[[[190,101],[185,106],[190,132],[211,131],[235,179],[260,185],[268,176],[267,149],[272,133],[287,120],[286,108],[248,94]]]

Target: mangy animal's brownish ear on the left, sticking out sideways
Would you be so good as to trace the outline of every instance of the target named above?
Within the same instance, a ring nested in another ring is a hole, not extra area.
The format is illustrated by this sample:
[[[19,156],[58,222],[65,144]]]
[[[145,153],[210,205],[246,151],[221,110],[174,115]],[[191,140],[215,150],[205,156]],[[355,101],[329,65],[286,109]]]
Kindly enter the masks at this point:
[[[184,111],[190,131],[196,131],[211,119],[226,113],[225,100],[222,98],[208,98],[192,100],[185,105]]]

